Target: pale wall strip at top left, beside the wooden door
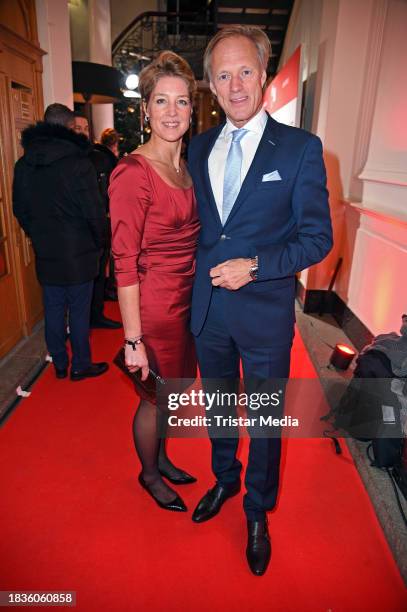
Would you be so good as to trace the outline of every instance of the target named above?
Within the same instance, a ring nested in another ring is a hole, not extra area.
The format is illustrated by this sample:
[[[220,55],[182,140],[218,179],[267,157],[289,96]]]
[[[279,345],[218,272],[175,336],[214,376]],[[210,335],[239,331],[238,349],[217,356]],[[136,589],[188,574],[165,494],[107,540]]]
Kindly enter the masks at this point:
[[[73,108],[71,43],[66,0],[36,0],[38,39],[43,57],[44,109],[53,102]]]

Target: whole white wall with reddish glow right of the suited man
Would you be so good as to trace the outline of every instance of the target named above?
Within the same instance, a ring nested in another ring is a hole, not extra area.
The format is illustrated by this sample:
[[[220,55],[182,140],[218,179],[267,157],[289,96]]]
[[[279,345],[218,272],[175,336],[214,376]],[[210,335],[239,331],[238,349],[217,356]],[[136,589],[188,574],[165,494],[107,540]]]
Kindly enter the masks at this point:
[[[282,62],[304,43],[304,79],[318,40],[312,126],[335,236],[331,255],[301,280],[326,288],[342,257],[338,295],[373,333],[398,329],[407,310],[407,2],[297,0],[293,20]]]

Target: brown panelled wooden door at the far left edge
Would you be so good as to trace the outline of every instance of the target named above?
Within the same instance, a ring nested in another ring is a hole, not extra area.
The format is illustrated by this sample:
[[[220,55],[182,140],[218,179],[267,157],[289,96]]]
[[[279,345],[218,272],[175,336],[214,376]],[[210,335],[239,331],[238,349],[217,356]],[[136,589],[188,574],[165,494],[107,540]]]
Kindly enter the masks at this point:
[[[12,210],[22,130],[43,113],[42,56],[35,0],[0,0],[0,357],[42,318],[29,239]]]

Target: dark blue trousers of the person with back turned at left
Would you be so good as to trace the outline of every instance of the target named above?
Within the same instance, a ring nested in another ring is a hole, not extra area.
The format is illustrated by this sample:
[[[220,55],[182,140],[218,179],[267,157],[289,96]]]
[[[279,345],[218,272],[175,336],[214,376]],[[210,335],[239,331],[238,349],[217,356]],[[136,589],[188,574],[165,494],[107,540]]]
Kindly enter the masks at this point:
[[[78,285],[43,285],[45,340],[56,368],[68,366],[66,320],[72,347],[72,369],[83,370],[91,363],[89,316],[93,280]]]

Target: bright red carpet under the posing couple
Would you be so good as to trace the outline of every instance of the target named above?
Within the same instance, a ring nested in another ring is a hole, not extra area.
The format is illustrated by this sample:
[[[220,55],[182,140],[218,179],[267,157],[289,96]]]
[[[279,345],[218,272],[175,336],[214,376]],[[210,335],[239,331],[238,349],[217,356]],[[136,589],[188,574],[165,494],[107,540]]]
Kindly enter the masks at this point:
[[[94,359],[110,360],[120,341],[120,331],[95,332]],[[298,334],[292,373],[315,377]],[[273,557],[257,578],[246,566],[241,497],[195,525],[190,512],[165,512],[141,490],[136,400],[120,376],[111,367],[70,383],[48,368],[0,431],[0,590],[76,591],[80,612],[406,609],[346,449],[338,457],[327,440],[284,443],[280,499],[269,516]],[[178,488],[192,511],[213,482],[209,444],[172,440],[170,450],[199,478]]]

